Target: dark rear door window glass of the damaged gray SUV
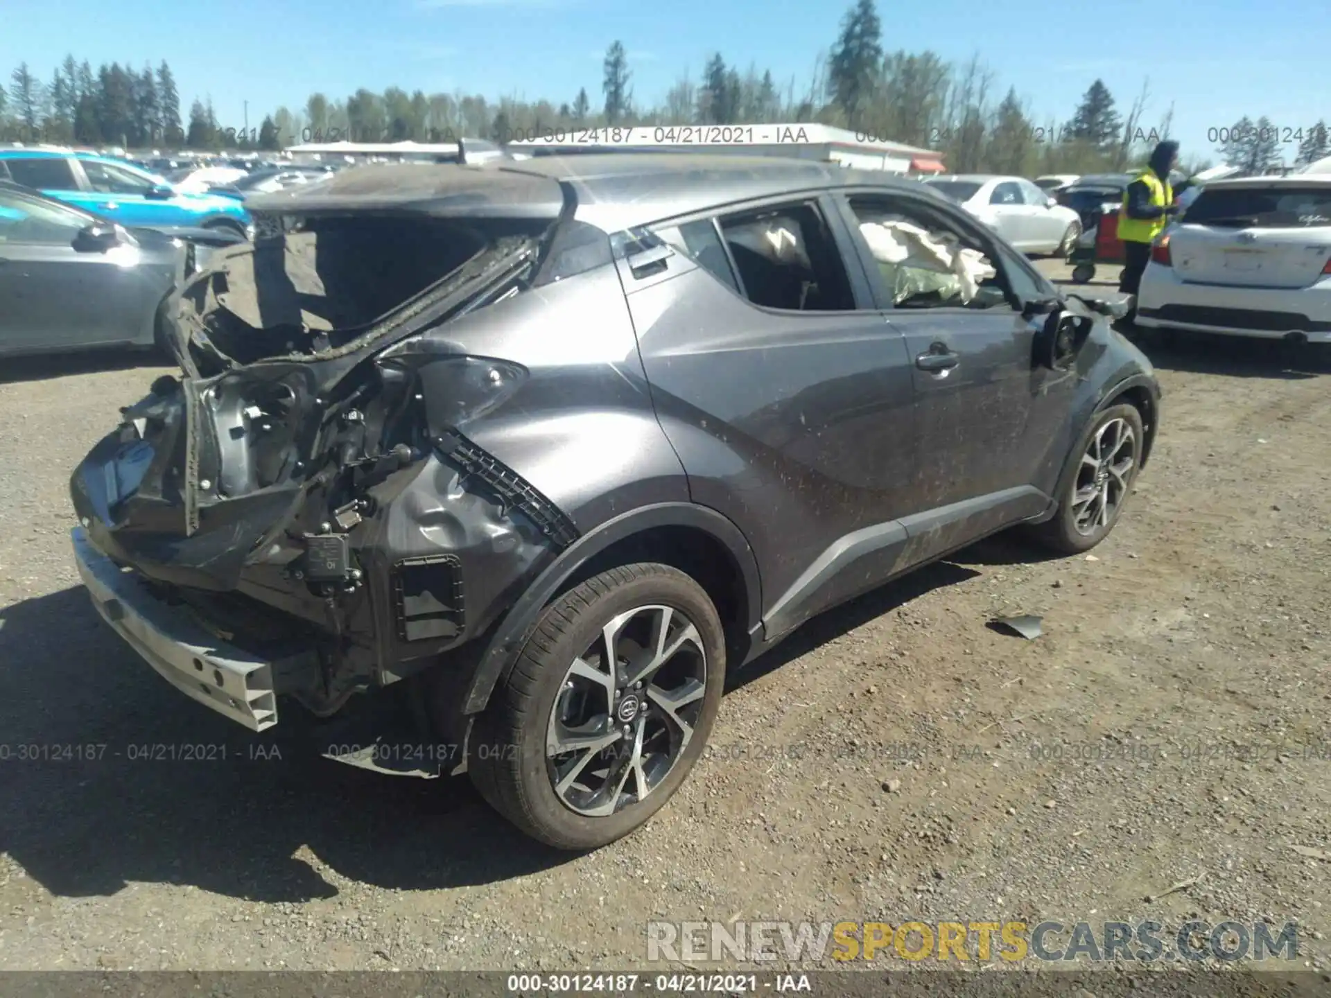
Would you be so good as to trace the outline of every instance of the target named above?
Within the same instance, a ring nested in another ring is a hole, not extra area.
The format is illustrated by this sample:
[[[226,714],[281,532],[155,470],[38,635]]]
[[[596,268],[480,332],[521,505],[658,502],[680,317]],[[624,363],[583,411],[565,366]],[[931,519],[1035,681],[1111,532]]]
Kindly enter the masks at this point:
[[[785,205],[719,221],[741,293],[787,311],[853,311],[855,293],[823,214]]]

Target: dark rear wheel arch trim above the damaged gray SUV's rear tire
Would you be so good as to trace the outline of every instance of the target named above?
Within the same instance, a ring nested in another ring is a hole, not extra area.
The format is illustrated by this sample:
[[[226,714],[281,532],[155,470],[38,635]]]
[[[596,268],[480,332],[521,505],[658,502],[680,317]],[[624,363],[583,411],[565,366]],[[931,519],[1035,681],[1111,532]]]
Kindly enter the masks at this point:
[[[757,559],[728,518],[693,503],[660,503],[616,516],[583,535],[518,597],[487,636],[463,696],[462,712],[479,713],[512,668],[542,611],[590,578],[622,564],[656,562],[692,576],[716,605],[727,653],[737,667],[761,624]]]

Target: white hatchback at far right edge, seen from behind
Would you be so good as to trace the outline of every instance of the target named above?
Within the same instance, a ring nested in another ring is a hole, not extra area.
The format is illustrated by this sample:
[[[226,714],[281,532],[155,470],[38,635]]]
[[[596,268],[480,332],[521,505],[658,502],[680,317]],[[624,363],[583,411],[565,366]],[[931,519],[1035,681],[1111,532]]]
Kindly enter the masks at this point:
[[[1207,184],[1151,248],[1137,325],[1331,343],[1331,174]]]

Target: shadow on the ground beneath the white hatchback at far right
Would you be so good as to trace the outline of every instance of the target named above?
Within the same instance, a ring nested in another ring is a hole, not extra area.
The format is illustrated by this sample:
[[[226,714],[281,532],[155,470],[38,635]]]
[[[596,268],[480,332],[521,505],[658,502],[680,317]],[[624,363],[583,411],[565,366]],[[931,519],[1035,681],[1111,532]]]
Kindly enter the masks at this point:
[[[1279,339],[1153,330],[1133,325],[1123,325],[1119,331],[1161,370],[1279,381],[1306,381],[1331,374],[1331,347],[1326,346],[1300,347]]]

